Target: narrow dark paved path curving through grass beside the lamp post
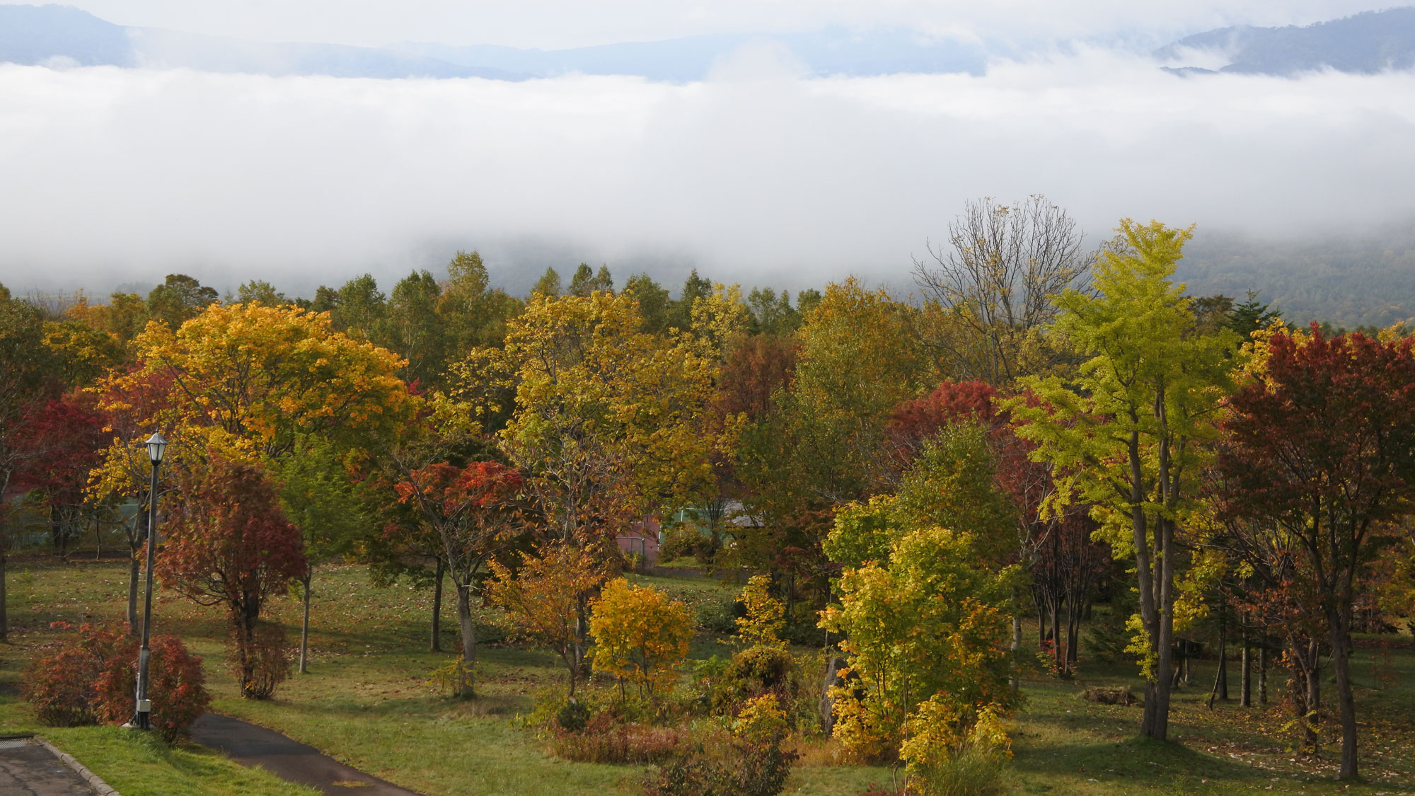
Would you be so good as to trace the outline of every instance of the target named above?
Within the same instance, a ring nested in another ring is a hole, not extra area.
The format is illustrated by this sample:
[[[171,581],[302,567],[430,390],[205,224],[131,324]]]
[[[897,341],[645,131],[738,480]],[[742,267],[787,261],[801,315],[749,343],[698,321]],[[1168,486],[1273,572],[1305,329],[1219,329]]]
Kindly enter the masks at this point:
[[[225,752],[241,765],[260,766],[280,779],[313,785],[324,793],[417,796],[413,790],[352,769],[314,746],[229,715],[215,712],[202,715],[191,728],[191,739]],[[8,790],[0,786],[0,793]]]

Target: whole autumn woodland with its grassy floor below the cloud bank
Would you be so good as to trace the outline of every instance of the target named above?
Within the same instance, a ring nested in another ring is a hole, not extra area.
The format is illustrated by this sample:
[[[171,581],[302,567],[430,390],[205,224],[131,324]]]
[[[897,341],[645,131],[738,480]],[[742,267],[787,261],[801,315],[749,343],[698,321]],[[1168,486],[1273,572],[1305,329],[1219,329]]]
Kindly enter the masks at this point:
[[[1193,228],[948,229],[910,295],[0,288],[0,720],[125,793],[211,710],[427,793],[1415,788],[1415,339],[1190,295]]]

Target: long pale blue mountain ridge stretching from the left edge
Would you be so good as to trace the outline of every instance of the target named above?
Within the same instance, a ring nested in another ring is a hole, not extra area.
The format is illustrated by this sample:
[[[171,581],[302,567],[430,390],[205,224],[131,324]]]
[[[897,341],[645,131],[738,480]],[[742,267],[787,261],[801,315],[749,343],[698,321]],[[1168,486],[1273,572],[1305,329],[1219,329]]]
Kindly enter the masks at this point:
[[[640,75],[699,81],[744,45],[778,48],[818,75],[982,74],[982,44],[928,40],[913,31],[855,34],[709,34],[570,50],[408,42],[386,48],[255,42],[161,28],[123,27],[68,6],[0,4],[0,62],[45,67],[178,68],[340,78],[550,78]]]

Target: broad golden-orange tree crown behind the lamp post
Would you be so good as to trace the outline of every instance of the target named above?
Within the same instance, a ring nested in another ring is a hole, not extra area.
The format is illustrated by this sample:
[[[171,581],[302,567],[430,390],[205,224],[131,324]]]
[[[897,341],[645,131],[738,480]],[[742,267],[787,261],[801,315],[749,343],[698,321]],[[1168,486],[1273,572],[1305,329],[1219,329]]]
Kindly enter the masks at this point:
[[[334,331],[327,313],[294,306],[211,305],[175,330],[149,323],[133,350],[133,368],[93,388],[115,418],[89,484],[99,499],[146,500],[140,445],[153,431],[173,443],[168,472],[209,453],[279,472],[311,445],[347,457],[368,450],[420,404],[396,375],[400,358]]]

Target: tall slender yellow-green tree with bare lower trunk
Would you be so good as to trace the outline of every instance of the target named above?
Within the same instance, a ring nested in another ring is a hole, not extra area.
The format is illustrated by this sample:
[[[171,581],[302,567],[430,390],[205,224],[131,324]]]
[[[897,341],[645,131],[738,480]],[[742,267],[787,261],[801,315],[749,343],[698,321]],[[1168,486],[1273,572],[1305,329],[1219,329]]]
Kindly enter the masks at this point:
[[[1200,334],[1174,263],[1190,229],[1121,221],[1095,295],[1061,296],[1056,336],[1084,361],[1074,377],[1030,378],[1006,402],[1033,457],[1075,473],[1054,499],[1091,504],[1116,555],[1133,555],[1148,681],[1140,735],[1165,739],[1173,671],[1176,535],[1193,504],[1201,445],[1231,385],[1235,336]]]

